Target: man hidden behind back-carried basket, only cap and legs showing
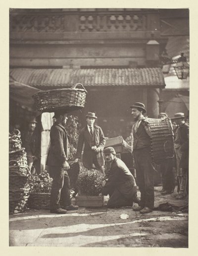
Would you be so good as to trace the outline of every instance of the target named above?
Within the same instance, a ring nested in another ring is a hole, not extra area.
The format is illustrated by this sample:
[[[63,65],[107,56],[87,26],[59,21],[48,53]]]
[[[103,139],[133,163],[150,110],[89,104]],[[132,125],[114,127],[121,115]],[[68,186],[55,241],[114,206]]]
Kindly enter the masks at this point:
[[[168,118],[166,113],[159,113],[158,118],[164,120]],[[162,177],[161,194],[171,194],[175,188],[175,177],[173,173],[173,159],[168,158],[166,163],[160,164],[160,172]]]

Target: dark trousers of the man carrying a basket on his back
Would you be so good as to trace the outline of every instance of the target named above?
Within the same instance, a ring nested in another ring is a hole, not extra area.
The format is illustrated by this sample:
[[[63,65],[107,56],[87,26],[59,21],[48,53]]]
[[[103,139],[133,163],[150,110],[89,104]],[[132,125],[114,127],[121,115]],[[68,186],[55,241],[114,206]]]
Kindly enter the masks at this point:
[[[154,208],[154,175],[150,147],[134,149],[137,183],[141,192],[140,206]]]

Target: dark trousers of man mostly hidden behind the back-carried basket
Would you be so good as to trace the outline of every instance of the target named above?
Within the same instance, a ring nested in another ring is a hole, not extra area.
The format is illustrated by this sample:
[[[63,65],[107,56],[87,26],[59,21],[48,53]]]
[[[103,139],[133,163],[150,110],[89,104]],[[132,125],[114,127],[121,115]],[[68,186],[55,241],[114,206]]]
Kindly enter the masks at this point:
[[[162,176],[162,187],[167,192],[172,192],[175,188],[175,177],[173,173],[173,159],[167,159],[166,163],[160,165]]]

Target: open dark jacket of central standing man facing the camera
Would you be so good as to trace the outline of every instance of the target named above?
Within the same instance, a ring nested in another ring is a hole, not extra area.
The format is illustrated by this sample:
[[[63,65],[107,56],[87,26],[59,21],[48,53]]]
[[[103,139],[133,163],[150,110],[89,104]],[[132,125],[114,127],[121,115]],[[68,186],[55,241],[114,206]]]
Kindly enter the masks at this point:
[[[102,150],[105,146],[106,140],[105,140],[103,131],[99,126],[94,126],[94,137],[95,137],[95,145],[100,148],[100,152],[97,154],[98,164],[99,166],[103,166],[104,157],[102,154]],[[81,158],[83,143],[85,143],[85,147],[83,151],[83,165],[91,169],[93,166],[93,157],[92,157],[93,150],[91,145],[91,136],[87,126],[80,130],[76,158]]]

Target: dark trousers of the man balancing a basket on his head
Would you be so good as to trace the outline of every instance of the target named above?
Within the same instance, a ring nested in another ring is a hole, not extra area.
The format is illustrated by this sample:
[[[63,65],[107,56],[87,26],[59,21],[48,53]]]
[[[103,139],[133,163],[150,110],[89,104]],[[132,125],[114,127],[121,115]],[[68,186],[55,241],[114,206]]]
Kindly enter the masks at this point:
[[[49,175],[53,179],[50,195],[50,209],[60,208],[60,199],[63,206],[71,204],[69,176],[62,167],[49,166]]]

